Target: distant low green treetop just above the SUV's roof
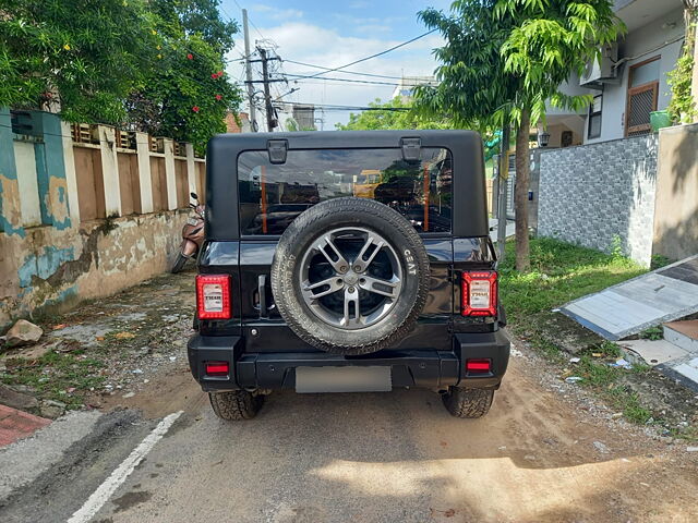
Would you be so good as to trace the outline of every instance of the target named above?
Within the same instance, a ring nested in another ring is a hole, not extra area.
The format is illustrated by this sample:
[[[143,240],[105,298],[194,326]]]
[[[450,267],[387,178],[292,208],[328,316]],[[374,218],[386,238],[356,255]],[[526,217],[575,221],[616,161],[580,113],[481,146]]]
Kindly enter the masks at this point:
[[[380,98],[369,102],[372,110],[350,113],[347,124],[337,123],[340,131],[376,129],[453,129],[453,122],[443,117],[428,118],[418,113],[399,98],[383,104]]]

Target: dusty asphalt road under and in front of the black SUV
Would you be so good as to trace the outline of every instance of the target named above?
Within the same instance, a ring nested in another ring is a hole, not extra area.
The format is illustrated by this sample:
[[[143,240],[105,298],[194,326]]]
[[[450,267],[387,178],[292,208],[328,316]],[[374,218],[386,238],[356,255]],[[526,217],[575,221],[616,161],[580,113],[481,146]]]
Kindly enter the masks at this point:
[[[490,415],[450,417],[422,390],[276,393],[226,423],[185,373],[103,416],[0,520],[68,521],[157,425],[184,413],[92,521],[695,522],[698,460],[541,386],[513,360]],[[131,405],[133,406],[133,405]],[[602,443],[602,446],[595,445]]]

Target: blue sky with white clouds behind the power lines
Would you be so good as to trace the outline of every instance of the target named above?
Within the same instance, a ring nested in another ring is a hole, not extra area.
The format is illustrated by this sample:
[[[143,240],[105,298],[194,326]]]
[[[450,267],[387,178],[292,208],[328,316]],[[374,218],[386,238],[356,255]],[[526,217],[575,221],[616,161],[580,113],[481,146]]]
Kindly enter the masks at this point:
[[[241,8],[248,10],[252,47],[255,46],[255,40],[270,40],[278,46],[276,52],[284,60],[336,68],[425,33],[428,28],[418,20],[417,13],[426,7],[447,10],[450,2],[452,0],[222,0],[222,16],[232,17],[241,27],[236,49],[228,57],[228,73],[234,80],[244,81],[244,66],[241,63],[244,54]],[[348,68],[347,71],[389,76],[428,76],[433,74],[436,66],[432,50],[441,45],[441,36],[434,33],[387,54]],[[286,61],[281,68],[284,73],[299,75],[321,71]],[[257,71],[253,73],[254,80],[261,78],[260,64],[255,63],[253,69]],[[324,76],[397,82],[339,71]],[[257,85],[262,88],[261,84]],[[291,88],[300,88],[284,96],[286,101],[345,106],[365,106],[376,98],[386,101],[395,89],[392,85],[352,84],[318,78],[289,82],[288,86],[282,83],[272,85],[274,97],[288,93]],[[323,118],[322,127],[328,131],[334,130],[337,122],[346,123],[349,112],[325,111],[323,114],[316,111],[315,117]],[[316,125],[321,127],[321,123]]]

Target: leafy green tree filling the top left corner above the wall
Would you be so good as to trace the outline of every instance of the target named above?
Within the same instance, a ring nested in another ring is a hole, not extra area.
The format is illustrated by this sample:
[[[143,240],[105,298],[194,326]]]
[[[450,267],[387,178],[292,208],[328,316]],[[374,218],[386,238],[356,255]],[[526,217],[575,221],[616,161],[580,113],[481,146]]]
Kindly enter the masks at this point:
[[[116,123],[154,57],[144,0],[5,0],[0,106],[59,108],[68,121]]]

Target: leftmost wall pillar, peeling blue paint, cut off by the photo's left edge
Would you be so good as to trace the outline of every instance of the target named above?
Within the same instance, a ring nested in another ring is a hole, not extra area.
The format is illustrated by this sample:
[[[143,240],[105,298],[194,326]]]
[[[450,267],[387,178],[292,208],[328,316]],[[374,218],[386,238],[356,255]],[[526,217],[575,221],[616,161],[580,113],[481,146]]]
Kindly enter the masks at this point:
[[[0,232],[24,236],[10,110],[0,107]],[[0,259],[2,259],[0,253]]]

